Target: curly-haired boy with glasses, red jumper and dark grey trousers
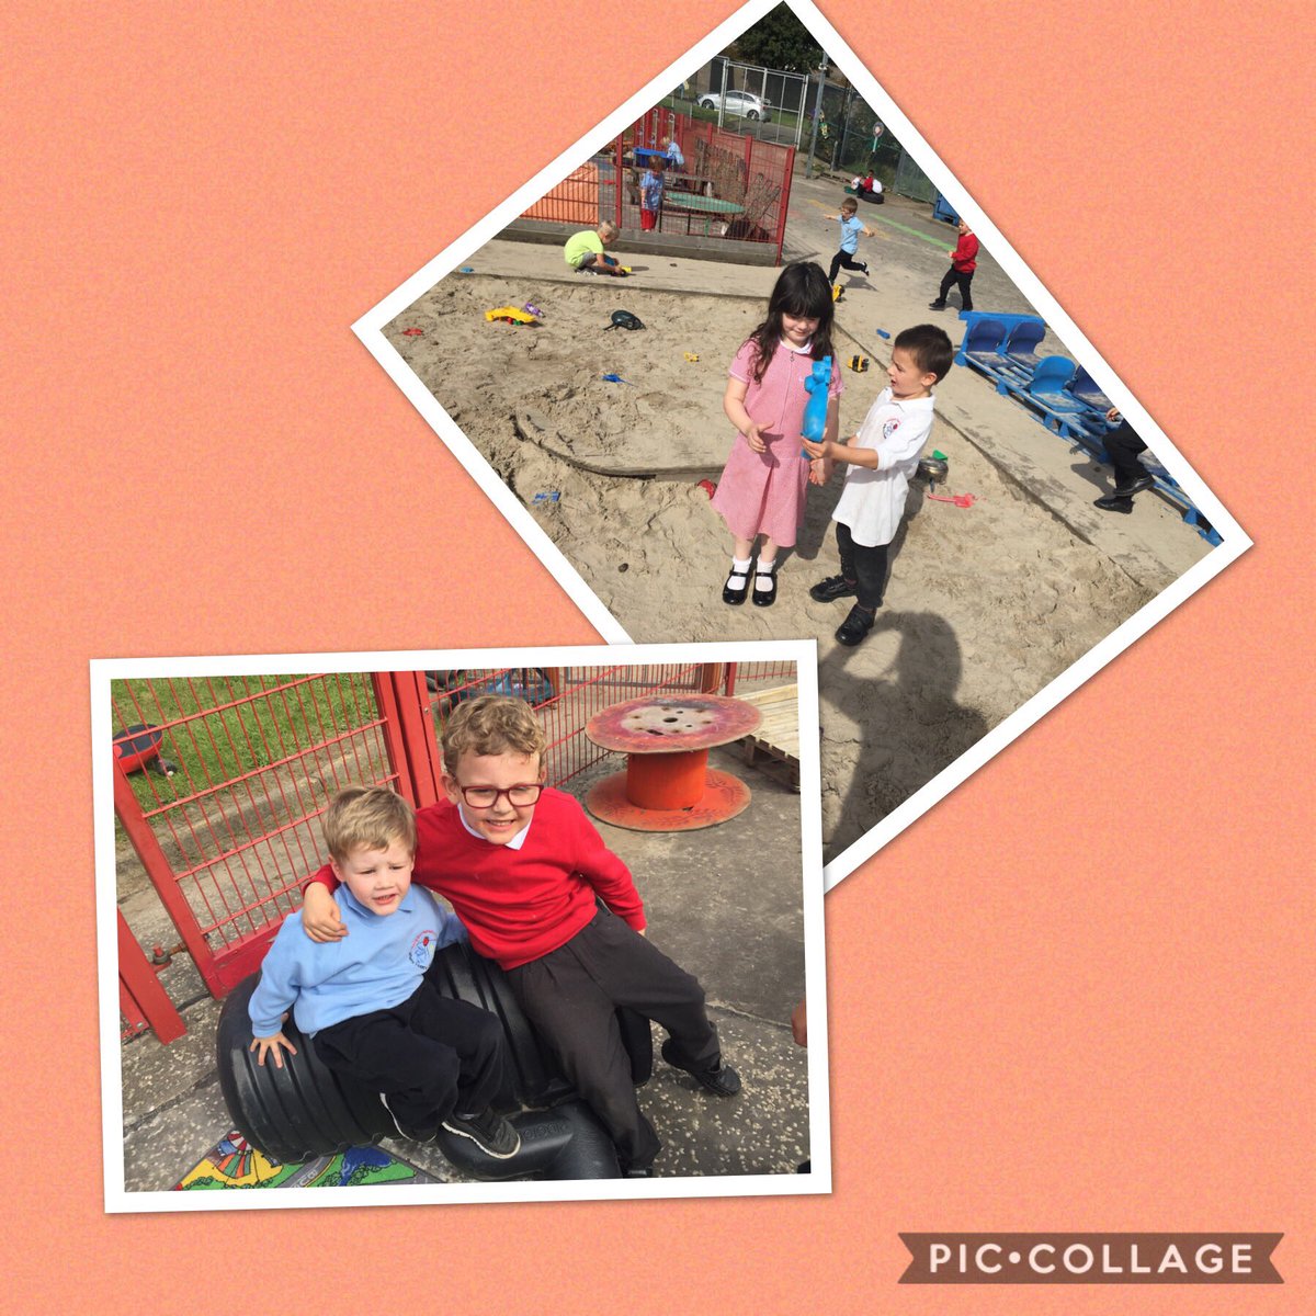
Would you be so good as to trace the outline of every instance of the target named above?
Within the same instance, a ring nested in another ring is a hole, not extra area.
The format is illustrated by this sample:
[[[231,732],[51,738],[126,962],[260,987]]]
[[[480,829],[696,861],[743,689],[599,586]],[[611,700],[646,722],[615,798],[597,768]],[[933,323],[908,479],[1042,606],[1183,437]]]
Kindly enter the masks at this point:
[[[663,1059],[711,1092],[734,1096],[740,1078],[722,1063],[697,979],[645,940],[626,866],[572,796],[544,786],[546,745],[524,700],[482,695],[453,713],[442,737],[447,803],[416,815],[415,880],[440,892],[475,950],[503,967],[624,1170],[642,1177],[662,1144],[636,1101],[616,1007],[666,1028]],[[328,869],[307,887],[312,940],[345,934],[332,890]]]

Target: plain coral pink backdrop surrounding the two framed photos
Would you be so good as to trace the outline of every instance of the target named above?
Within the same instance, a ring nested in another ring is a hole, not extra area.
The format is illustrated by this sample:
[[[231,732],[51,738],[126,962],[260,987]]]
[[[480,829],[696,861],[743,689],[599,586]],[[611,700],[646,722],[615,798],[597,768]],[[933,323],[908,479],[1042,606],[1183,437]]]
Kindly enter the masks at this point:
[[[1257,544],[828,898],[834,1195],[103,1213],[88,658],[595,638],[349,325],[733,7],[483,12],[0,20],[11,1292],[1311,1311],[1316,290],[1288,5],[826,4]],[[1288,1284],[896,1287],[898,1230],[955,1228],[1284,1230]]]

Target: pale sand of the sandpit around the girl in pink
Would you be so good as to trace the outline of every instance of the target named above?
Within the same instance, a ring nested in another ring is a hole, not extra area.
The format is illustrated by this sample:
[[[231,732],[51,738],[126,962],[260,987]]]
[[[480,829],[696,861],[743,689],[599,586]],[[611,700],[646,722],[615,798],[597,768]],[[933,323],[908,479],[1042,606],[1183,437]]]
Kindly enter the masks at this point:
[[[555,247],[497,242],[480,257],[478,272],[449,275],[400,315],[388,340],[634,641],[817,640],[828,861],[1208,551],[1163,507],[1140,500],[1137,517],[1120,519],[1136,524],[1121,526],[1090,511],[1108,483],[1096,465],[953,370],[929,450],[950,459],[948,490],[975,503],[911,488],[865,644],[833,638],[849,600],[808,597],[837,570],[829,515],[840,474],[811,490],[776,604],[726,607],[729,536],[697,482],[716,479],[730,447],[726,366],[775,271],[653,257],[636,261],[636,278],[612,280],[572,276]],[[874,321],[937,320],[915,305],[926,279],[909,268],[899,280],[857,279],[838,307],[842,362],[854,351],[873,359],[867,372],[845,368],[842,433],[886,383],[890,343]],[[538,328],[484,320],[525,301],[544,309]],[[617,308],[646,328],[607,329]],[[940,322],[958,341],[954,320]],[[604,382],[608,372],[628,383]],[[1020,455],[1033,451],[1036,462]]]

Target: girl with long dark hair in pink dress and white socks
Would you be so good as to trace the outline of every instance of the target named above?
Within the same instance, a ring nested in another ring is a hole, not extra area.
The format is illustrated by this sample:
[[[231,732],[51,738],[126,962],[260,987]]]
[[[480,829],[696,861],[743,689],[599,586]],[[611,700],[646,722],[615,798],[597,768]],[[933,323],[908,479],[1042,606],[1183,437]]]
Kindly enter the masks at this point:
[[[767,301],[767,318],[745,340],[730,365],[722,409],[737,429],[736,442],[713,507],[732,532],[732,570],[722,586],[722,603],[740,604],[749,594],[754,567],[754,603],[776,599],[776,550],[788,549],[804,521],[809,482],[822,482],[821,462],[800,451],[804,380],[813,362],[830,357],[832,286],[821,266],[811,261],[788,265]],[[828,386],[826,436],[840,429],[841,372],[833,367]]]

